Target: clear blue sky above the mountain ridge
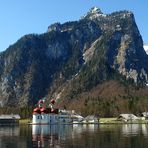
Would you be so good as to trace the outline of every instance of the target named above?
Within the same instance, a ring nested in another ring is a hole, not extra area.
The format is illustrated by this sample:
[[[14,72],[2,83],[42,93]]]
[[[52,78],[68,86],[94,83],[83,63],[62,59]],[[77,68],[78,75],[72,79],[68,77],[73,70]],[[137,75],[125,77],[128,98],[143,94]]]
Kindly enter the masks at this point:
[[[55,22],[78,20],[91,7],[103,13],[130,10],[148,43],[148,0],[1,0],[0,51],[30,33],[44,33]]]

